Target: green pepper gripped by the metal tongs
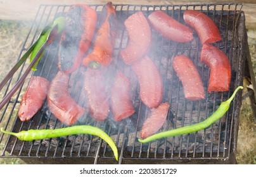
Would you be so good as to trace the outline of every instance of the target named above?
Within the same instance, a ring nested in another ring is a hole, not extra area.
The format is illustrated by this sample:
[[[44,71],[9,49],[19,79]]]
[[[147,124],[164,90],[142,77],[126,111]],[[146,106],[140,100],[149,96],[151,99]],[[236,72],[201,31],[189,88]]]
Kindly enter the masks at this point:
[[[37,52],[41,49],[42,45],[44,45],[44,43],[46,42],[49,33],[51,32],[51,30],[53,30],[53,28],[58,25],[58,32],[57,34],[60,34],[60,32],[62,32],[64,25],[65,25],[65,17],[60,16],[58,18],[56,18],[53,21],[53,25],[48,25],[46,27],[46,31],[44,32],[44,35],[41,35],[41,37],[39,38],[34,50],[31,52],[30,55],[30,63],[33,61],[33,59],[35,58],[35,55],[37,54]],[[37,60],[37,62],[35,63],[35,65],[33,66],[32,70],[36,71],[35,66],[37,65],[37,63],[39,62],[39,60],[42,58],[42,55],[44,54],[44,52],[42,52],[41,56],[39,57],[39,59]]]

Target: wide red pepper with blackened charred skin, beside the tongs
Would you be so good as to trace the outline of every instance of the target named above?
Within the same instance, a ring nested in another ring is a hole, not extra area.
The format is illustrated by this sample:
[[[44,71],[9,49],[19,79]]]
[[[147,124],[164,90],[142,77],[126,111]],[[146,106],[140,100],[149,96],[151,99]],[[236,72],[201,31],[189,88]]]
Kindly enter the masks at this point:
[[[65,19],[58,52],[58,67],[65,73],[72,73],[80,66],[89,49],[96,28],[97,14],[85,4],[76,4],[68,10]]]

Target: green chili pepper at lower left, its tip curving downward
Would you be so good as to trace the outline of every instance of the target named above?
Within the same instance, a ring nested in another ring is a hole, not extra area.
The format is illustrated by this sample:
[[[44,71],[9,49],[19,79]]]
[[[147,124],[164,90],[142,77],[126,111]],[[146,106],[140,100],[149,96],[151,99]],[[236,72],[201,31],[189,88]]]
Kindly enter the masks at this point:
[[[110,145],[111,149],[113,150],[115,159],[118,161],[118,150],[117,146],[113,142],[112,138],[108,136],[108,134],[105,133],[105,131],[101,130],[100,128],[97,128],[95,126],[89,126],[89,125],[77,125],[77,126],[69,126],[66,128],[57,128],[54,130],[51,129],[42,129],[42,130],[23,130],[18,133],[10,132],[10,131],[4,131],[4,128],[2,127],[0,129],[3,133],[6,133],[8,135],[14,135],[19,140],[23,141],[33,141],[33,140],[42,140],[45,138],[56,138],[56,137],[65,137],[68,135],[76,135],[76,134],[90,134],[90,135],[96,135],[99,138],[105,140],[108,145]]]

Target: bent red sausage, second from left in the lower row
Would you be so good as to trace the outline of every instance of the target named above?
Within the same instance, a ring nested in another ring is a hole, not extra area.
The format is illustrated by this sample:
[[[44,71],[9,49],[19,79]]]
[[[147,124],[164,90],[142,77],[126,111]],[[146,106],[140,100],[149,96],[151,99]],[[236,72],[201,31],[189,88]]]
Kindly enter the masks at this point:
[[[68,93],[68,82],[69,76],[63,71],[58,71],[51,81],[47,103],[57,119],[66,125],[72,125],[84,114],[84,109]]]

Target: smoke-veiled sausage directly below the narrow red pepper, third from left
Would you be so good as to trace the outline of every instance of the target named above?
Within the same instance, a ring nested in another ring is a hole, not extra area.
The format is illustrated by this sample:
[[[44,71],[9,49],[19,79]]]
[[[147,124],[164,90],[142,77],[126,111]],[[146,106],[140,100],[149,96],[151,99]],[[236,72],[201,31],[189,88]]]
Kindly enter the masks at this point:
[[[84,74],[84,89],[86,90],[89,113],[96,121],[105,121],[110,106],[101,70],[87,68]]]

